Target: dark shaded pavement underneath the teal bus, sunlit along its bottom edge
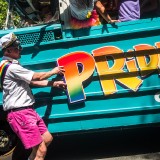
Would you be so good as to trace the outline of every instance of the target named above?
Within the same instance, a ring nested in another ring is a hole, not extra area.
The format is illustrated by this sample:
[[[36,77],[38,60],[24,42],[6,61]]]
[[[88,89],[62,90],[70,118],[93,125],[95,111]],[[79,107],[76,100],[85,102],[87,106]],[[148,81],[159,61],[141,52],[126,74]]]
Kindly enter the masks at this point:
[[[46,160],[160,160],[160,128],[56,137]],[[0,158],[11,160],[11,158]]]

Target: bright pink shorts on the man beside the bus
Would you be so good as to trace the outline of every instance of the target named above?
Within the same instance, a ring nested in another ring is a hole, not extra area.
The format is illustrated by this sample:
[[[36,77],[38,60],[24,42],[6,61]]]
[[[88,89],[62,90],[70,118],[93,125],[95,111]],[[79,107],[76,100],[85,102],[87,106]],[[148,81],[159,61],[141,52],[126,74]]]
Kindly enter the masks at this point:
[[[7,115],[7,120],[26,149],[40,144],[41,135],[47,131],[44,121],[32,108],[11,111]]]

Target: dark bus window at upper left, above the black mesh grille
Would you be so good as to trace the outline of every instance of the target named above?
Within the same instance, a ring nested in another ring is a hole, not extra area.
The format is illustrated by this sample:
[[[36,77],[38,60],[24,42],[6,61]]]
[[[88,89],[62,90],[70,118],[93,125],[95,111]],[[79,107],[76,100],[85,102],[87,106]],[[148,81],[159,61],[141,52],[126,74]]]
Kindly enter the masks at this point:
[[[58,0],[17,0],[14,6],[24,27],[59,22]]]

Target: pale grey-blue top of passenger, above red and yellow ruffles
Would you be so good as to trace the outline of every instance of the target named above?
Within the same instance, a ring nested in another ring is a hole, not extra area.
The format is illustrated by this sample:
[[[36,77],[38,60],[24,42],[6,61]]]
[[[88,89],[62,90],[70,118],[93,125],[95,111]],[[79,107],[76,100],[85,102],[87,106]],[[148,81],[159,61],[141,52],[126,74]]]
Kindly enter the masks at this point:
[[[72,17],[78,20],[87,19],[88,12],[92,12],[97,0],[69,0]]]

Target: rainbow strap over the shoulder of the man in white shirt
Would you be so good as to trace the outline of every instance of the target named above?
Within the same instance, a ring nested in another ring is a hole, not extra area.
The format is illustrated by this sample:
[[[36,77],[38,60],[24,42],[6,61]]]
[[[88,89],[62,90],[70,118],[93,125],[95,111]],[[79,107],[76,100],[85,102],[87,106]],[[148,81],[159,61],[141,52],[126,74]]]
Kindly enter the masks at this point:
[[[8,67],[11,65],[12,63],[10,61],[5,61],[1,66],[0,66],[0,88],[3,89],[3,80],[5,77],[5,74],[7,72]]]

